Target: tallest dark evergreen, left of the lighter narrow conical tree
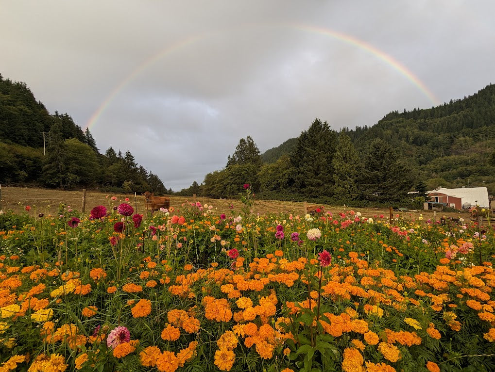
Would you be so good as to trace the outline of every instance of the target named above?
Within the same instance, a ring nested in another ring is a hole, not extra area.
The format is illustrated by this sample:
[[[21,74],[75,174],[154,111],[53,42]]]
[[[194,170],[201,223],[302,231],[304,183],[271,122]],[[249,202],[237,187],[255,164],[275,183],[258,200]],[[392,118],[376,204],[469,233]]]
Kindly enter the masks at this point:
[[[332,195],[336,140],[336,132],[319,119],[301,133],[291,154],[296,192],[309,198]]]

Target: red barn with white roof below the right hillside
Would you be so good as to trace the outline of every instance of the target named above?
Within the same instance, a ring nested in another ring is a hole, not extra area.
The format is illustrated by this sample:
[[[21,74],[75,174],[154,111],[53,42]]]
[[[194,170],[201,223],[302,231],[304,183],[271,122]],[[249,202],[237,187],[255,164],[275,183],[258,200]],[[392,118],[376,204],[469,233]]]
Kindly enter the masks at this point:
[[[446,189],[437,187],[428,191],[429,204],[443,204],[455,209],[470,208],[476,205],[489,208],[488,190],[486,187],[463,187],[460,189]]]

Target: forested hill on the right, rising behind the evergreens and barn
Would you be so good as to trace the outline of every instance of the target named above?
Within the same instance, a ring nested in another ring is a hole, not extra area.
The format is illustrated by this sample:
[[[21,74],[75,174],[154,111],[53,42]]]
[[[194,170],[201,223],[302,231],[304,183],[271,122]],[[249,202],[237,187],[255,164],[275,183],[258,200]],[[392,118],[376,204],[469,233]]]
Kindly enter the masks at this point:
[[[495,85],[469,97],[431,109],[387,114],[377,124],[343,128],[356,149],[380,138],[403,154],[429,188],[489,186],[495,191],[495,169],[488,159],[495,149]],[[297,139],[262,154],[274,163],[290,155]],[[484,181],[484,182],[483,182]]]

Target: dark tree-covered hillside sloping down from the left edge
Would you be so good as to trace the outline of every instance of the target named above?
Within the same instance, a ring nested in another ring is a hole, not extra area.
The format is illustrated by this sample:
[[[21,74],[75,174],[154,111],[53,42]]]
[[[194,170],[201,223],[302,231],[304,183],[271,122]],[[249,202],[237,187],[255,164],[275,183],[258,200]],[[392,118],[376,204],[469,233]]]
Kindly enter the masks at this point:
[[[68,114],[50,115],[26,83],[1,75],[0,184],[171,192],[129,151],[109,147],[100,154],[89,129],[83,131]]]

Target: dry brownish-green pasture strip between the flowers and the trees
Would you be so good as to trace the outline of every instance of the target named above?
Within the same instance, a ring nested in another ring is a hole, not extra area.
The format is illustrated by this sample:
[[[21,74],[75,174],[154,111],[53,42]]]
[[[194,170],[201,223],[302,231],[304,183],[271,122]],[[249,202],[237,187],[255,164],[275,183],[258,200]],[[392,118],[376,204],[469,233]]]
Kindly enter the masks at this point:
[[[115,196],[117,200],[113,202],[111,197]],[[106,194],[97,191],[86,192],[86,208],[85,212],[89,213],[91,208],[97,205],[104,205],[112,207],[113,204],[118,205],[124,202],[125,198],[129,198],[129,204],[131,204],[139,213],[145,213],[145,198],[141,195],[134,194]],[[174,208],[180,208],[184,203],[199,201],[201,204],[213,205],[219,212],[225,212],[229,210],[229,206],[233,206],[235,212],[241,212],[241,202],[239,200],[230,199],[209,199],[205,197],[198,197],[193,200],[192,197],[180,197],[171,196],[170,206]],[[25,206],[30,206],[32,212],[55,213],[58,210],[60,204],[69,205],[75,210],[81,211],[83,205],[83,192],[81,191],[62,191],[52,189],[41,188],[29,188],[29,187],[5,187],[1,188],[1,209],[12,209],[16,212],[25,210]],[[353,209],[354,211],[360,211],[364,216],[373,217],[374,215],[383,214],[386,217],[389,215],[388,208],[349,208],[344,206],[328,206],[324,205],[326,211],[332,213],[340,213],[342,211]],[[287,201],[267,201],[256,200],[253,206],[254,213],[293,213],[303,214],[302,202],[287,202]],[[400,214],[403,217],[416,218],[419,214],[423,214],[425,219],[437,218],[437,220],[443,215],[447,216],[462,216],[463,218],[469,218],[469,214],[466,212],[456,213],[436,213],[436,216],[432,211],[424,210],[410,210],[407,212],[394,212]]]

